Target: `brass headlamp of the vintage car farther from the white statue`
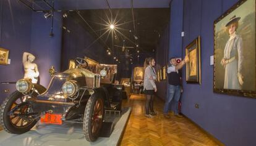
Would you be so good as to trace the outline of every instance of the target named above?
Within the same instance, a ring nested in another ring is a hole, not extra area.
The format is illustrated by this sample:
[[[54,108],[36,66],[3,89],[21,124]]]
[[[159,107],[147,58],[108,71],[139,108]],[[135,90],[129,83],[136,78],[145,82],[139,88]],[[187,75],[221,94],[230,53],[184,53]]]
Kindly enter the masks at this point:
[[[64,83],[62,86],[63,93],[68,96],[75,95],[78,90],[79,90],[79,87],[78,87],[76,81],[74,81],[74,80],[66,81],[66,83]]]

